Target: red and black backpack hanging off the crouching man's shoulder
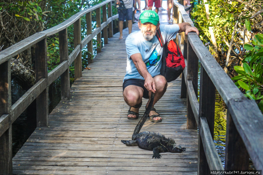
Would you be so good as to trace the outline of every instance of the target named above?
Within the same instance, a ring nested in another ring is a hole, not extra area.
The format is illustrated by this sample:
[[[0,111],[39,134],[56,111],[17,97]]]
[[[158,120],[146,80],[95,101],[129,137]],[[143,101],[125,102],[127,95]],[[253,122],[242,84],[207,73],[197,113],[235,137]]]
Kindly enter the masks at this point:
[[[173,40],[163,43],[160,28],[156,32],[156,37],[163,48],[161,75],[166,78],[167,82],[174,81],[185,68],[184,56]]]

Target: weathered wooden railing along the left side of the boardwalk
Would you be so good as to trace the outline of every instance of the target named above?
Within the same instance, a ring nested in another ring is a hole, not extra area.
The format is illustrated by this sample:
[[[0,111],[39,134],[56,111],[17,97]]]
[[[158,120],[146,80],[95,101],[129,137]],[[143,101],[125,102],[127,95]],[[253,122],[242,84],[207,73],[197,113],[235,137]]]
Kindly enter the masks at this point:
[[[81,50],[86,47],[92,55],[92,39],[97,36],[101,43],[103,30],[104,43],[108,37],[113,37],[112,0],[105,0],[95,6],[73,15],[65,22],[55,27],[36,33],[23,41],[0,52],[0,174],[12,174],[12,123],[36,99],[37,126],[48,126],[48,87],[58,77],[61,80],[61,99],[70,98],[69,66],[74,62],[75,78],[82,76]],[[101,23],[102,8],[102,23]],[[96,12],[96,29],[92,31],[91,13]],[[107,12],[108,10],[108,12]],[[81,17],[86,15],[87,36],[81,40]],[[68,27],[74,26],[74,50],[68,55]],[[53,34],[59,36],[60,64],[51,72],[47,72],[47,37]],[[24,50],[35,48],[36,81],[18,101],[11,106],[11,63],[10,59]],[[100,52],[101,48],[97,48]],[[91,57],[88,60],[92,62]]]

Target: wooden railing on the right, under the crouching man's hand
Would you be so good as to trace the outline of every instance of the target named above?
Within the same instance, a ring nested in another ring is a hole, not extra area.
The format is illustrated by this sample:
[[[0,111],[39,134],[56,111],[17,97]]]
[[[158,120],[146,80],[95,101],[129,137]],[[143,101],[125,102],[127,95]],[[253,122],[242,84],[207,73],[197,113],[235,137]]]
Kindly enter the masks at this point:
[[[189,22],[194,26],[184,6],[175,1],[173,17],[174,23]],[[262,170],[263,117],[256,102],[240,92],[196,33],[182,33],[177,38],[187,62],[181,85],[181,98],[187,98],[187,128],[198,127],[198,174],[210,174],[210,170],[248,170],[249,157],[255,168]],[[227,106],[225,168],[213,142],[215,89]]]

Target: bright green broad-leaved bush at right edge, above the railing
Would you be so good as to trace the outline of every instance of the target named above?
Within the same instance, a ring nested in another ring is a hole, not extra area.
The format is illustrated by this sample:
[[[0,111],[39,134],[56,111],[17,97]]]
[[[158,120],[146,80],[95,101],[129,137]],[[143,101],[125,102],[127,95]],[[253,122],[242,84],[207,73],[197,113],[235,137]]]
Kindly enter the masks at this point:
[[[246,44],[244,48],[249,52],[243,60],[243,67],[235,66],[238,76],[231,79],[243,89],[246,97],[256,100],[263,112],[263,34],[255,35],[252,45]]]

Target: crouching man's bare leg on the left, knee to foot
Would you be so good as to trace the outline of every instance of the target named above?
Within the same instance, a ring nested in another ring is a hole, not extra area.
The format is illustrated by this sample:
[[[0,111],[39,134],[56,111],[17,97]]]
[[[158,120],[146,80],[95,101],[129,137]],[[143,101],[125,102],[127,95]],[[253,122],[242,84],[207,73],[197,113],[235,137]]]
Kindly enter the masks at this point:
[[[141,99],[143,97],[143,88],[135,85],[129,85],[123,90],[124,101],[129,106],[135,106],[141,103]],[[131,107],[131,111],[139,113],[139,108]],[[136,118],[136,115],[129,114],[128,117]]]

